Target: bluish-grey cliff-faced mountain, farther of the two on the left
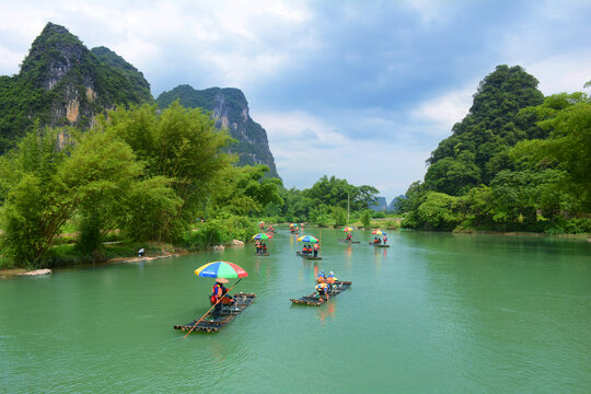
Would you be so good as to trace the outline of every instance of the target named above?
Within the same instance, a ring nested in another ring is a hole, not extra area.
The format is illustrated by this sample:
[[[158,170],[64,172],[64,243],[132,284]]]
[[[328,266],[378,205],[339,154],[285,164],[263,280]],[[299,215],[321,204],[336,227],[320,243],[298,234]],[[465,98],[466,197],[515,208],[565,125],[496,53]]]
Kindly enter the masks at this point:
[[[165,108],[176,100],[185,107],[199,107],[211,112],[217,119],[216,127],[227,128],[237,140],[231,151],[237,153],[240,165],[265,164],[269,167],[269,176],[279,177],[269,150],[267,132],[251,118],[248,103],[242,91],[232,88],[195,90],[185,84],[163,92],[157,103],[159,107]]]

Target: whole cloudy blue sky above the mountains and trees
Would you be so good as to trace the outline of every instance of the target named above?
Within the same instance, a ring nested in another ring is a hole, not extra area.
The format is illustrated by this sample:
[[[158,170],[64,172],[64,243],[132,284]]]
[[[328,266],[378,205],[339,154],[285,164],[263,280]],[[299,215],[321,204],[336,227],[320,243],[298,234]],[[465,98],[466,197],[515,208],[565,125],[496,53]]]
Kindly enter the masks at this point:
[[[498,65],[546,94],[591,80],[591,1],[0,0],[0,74],[47,22],[138,68],[157,97],[239,88],[286,187],[323,175],[390,202]]]

